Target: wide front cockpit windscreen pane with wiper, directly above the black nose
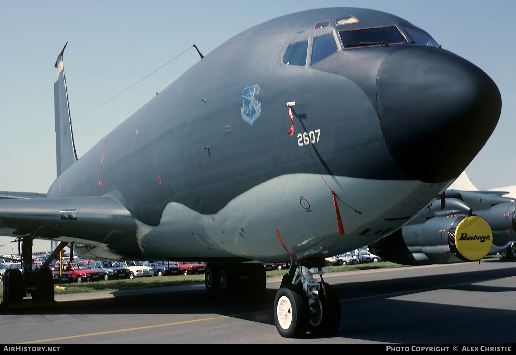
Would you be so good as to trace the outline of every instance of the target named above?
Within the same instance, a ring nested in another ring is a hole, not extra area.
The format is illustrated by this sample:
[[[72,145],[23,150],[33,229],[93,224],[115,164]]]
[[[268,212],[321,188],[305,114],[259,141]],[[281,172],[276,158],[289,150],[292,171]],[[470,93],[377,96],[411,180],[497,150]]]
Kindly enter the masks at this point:
[[[409,43],[396,26],[338,31],[344,48]]]

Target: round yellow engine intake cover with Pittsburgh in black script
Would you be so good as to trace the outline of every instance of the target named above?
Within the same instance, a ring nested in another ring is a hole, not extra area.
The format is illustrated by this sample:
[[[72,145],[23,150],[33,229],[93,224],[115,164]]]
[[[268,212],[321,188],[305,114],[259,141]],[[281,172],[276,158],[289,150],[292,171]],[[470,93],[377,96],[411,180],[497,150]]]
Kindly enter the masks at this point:
[[[489,223],[479,216],[469,216],[455,229],[455,246],[467,260],[480,260],[493,245],[493,231]]]

